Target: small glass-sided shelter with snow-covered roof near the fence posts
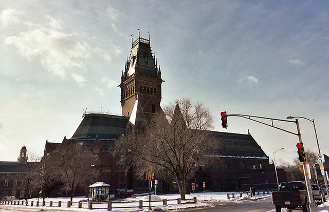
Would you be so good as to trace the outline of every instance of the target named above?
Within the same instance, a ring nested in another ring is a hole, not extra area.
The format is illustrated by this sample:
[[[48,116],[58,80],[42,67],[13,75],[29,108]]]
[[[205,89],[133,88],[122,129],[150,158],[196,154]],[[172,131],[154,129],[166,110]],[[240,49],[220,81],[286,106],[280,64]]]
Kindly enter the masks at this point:
[[[89,186],[88,201],[102,202],[109,198],[109,184],[97,182]]]

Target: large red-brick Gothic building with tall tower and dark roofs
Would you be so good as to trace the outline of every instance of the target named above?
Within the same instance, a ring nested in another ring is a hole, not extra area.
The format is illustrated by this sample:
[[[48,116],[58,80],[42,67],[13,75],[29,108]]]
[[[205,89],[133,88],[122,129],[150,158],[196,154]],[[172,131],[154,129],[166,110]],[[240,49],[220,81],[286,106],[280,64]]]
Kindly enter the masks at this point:
[[[100,181],[111,185],[111,191],[117,188],[133,188],[135,192],[148,190],[148,182],[141,179],[136,169],[128,171],[117,166],[120,157],[114,156],[115,142],[124,134],[140,133],[152,118],[163,112],[160,106],[162,98],[161,71],[157,59],[153,56],[150,38],[138,37],[132,41],[132,49],[121,75],[122,115],[84,112],[83,120],[71,138],[64,138],[63,143],[79,142],[85,149],[92,151],[101,161]],[[250,172],[264,173],[268,165],[268,156],[252,138],[251,134],[212,132],[218,146],[214,158],[220,160],[211,167],[199,170],[194,182],[206,181],[210,190],[239,190],[253,184]],[[60,143],[46,142],[44,156],[58,148]],[[268,173],[268,181],[276,182],[275,172]],[[248,175],[248,176],[246,176]],[[258,176],[260,176],[258,175]],[[264,175],[265,176],[265,175]],[[248,181],[243,180],[248,178]],[[259,178],[259,177],[258,177]],[[266,181],[264,181],[266,183]],[[267,187],[272,187],[267,182]],[[263,186],[264,187],[264,186]],[[170,192],[175,188],[160,181],[159,192]]]

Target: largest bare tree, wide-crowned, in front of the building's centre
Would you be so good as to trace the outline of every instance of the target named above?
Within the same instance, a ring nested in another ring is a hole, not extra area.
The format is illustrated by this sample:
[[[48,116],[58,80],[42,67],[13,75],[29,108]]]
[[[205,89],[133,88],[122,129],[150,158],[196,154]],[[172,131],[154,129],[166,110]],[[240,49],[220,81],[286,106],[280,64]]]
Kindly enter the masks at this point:
[[[154,115],[143,134],[121,138],[116,147],[125,152],[125,160],[146,171],[174,183],[181,199],[189,191],[189,180],[194,171],[205,166],[210,157],[213,139],[213,117],[202,104],[188,99],[177,100]],[[122,161],[121,161],[122,162]]]

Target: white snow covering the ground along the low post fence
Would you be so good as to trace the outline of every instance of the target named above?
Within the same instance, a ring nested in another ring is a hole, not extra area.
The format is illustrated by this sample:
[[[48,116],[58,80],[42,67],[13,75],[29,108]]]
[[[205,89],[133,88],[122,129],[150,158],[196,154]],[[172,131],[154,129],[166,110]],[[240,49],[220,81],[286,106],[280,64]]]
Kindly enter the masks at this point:
[[[231,194],[231,193],[230,193]],[[193,199],[193,197],[197,198],[197,203],[185,203],[186,201],[181,201],[184,204],[177,204],[177,199],[180,198],[179,194],[168,194],[168,195],[151,195],[151,200],[152,201],[159,201],[159,202],[152,202],[152,209],[153,210],[171,210],[171,211],[178,211],[180,209],[184,208],[194,208],[194,207],[208,207],[210,206],[211,202],[214,201],[221,201],[221,202],[227,202],[227,201],[235,201],[237,203],[239,202],[245,202],[245,201],[256,201],[260,199],[268,199],[271,197],[271,195],[256,195],[255,197],[250,197],[247,194],[243,194],[242,197],[240,197],[239,193],[235,193],[234,199],[230,198],[229,200],[227,199],[227,192],[199,192],[195,194],[190,194],[186,195],[186,199]],[[131,198],[120,198],[116,199],[114,198],[113,195],[111,195],[111,199],[114,201],[122,201],[121,203],[113,203],[113,209],[112,211],[149,211],[149,195],[148,194],[136,194],[135,196]],[[162,200],[167,199],[167,206],[162,205]],[[23,211],[23,208],[29,208],[29,211],[79,211],[79,212],[90,212],[90,211],[96,211],[96,212],[105,212],[107,211],[107,203],[102,203],[102,204],[93,204],[93,210],[87,209],[87,202],[88,198],[85,197],[75,197],[73,199],[73,205],[68,208],[66,207],[67,201],[69,201],[69,198],[61,197],[61,198],[46,198],[46,205],[48,206],[39,206],[36,207],[36,201],[38,201],[38,198],[33,198],[29,200],[29,206],[22,206],[22,205],[0,205],[0,212],[5,212],[5,211]],[[138,202],[142,200],[143,201],[143,209],[138,208]],[[33,201],[33,207],[30,206],[31,201]],[[42,199],[39,199],[41,202]],[[53,202],[53,207],[49,207],[49,202]],[[58,205],[58,202],[62,202],[62,206],[59,207],[54,207]],[[77,208],[78,202],[83,201],[82,207],[83,208]],[[134,201],[135,203],[132,203]],[[190,202],[192,200],[189,200]],[[41,205],[42,203],[40,203]],[[115,207],[126,207],[126,206],[136,206],[133,208],[115,208]],[[99,208],[95,208],[99,207]],[[7,210],[3,210],[6,209]],[[10,209],[8,209],[10,208]],[[102,208],[102,209],[101,209]],[[274,208],[274,207],[273,207]],[[34,210],[35,209],[35,210]],[[275,212],[275,209],[273,210],[268,210],[266,212]],[[287,209],[282,209],[282,212],[288,212]],[[329,201],[325,202],[323,205],[318,206],[318,212],[329,212]]]

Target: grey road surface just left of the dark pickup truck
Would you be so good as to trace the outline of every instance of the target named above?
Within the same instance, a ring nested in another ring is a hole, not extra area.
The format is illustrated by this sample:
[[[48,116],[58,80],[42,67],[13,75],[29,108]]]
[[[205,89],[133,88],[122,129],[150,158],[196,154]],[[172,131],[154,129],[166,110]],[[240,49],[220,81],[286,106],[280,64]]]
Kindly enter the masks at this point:
[[[246,201],[246,202],[208,202],[214,205],[214,207],[202,208],[202,209],[190,209],[185,211],[197,211],[197,212],[264,212],[275,211],[274,206],[270,198],[258,201]]]

